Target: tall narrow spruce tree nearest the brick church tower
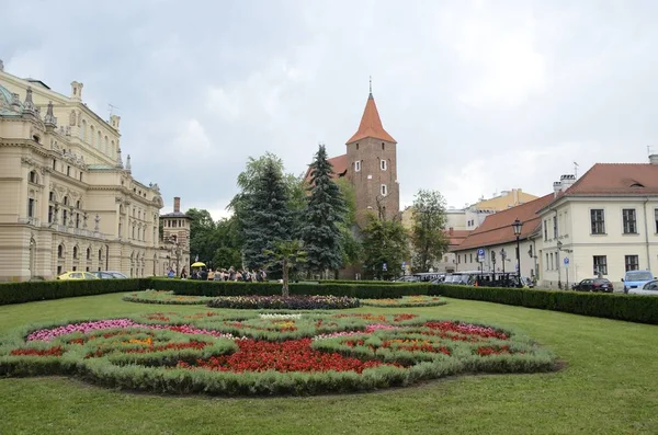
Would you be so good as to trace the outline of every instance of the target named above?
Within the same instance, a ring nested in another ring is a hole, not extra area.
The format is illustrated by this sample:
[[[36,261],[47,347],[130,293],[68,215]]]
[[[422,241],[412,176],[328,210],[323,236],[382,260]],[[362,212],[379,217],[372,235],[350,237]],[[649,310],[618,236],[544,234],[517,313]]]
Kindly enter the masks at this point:
[[[345,204],[338,185],[331,179],[333,168],[320,145],[310,164],[310,187],[300,229],[308,271],[322,273],[342,264],[340,224]]]

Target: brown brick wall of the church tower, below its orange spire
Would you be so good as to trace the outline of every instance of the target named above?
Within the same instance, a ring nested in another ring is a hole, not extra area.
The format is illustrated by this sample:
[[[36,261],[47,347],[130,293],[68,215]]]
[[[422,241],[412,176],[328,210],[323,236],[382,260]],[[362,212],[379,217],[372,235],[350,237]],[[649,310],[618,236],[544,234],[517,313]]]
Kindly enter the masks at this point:
[[[397,145],[364,138],[348,144],[347,148],[348,180],[354,185],[359,225],[363,227],[367,221],[367,214],[373,213],[377,216],[379,209],[386,219],[397,217],[400,210]],[[382,169],[382,161],[385,161],[386,169]],[[382,193],[382,186],[386,186],[386,194]]]

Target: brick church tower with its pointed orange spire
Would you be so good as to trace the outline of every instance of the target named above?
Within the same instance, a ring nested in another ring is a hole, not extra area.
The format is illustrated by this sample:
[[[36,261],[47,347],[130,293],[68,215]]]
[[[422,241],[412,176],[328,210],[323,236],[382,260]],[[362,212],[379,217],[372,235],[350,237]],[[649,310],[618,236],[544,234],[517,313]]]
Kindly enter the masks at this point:
[[[356,221],[363,227],[367,214],[390,220],[399,216],[397,142],[382,126],[371,84],[356,133],[347,141],[347,176],[356,196]]]

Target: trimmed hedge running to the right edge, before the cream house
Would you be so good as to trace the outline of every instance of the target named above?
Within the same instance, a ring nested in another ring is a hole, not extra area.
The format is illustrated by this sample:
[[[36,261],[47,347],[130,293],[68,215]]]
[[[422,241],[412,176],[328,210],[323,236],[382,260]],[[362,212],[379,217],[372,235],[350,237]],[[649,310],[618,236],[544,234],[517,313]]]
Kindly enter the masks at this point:
[[[438,284],[430,295],[658,324],[658,297]]]

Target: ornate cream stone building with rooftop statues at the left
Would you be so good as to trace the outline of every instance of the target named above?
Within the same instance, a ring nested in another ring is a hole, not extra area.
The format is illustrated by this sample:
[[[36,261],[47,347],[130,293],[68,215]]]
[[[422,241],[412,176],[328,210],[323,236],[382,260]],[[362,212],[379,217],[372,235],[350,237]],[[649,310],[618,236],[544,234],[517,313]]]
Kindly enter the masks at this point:
[[[121,156],[120,121],[0,68],[0,281],[66,271],[159,274],[157,184],[135,180]]]

